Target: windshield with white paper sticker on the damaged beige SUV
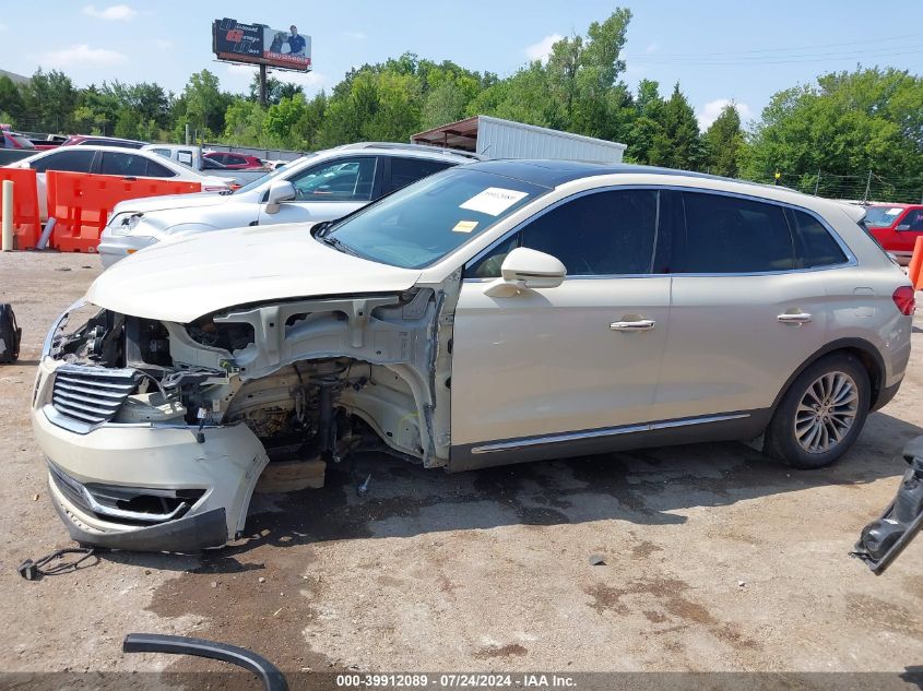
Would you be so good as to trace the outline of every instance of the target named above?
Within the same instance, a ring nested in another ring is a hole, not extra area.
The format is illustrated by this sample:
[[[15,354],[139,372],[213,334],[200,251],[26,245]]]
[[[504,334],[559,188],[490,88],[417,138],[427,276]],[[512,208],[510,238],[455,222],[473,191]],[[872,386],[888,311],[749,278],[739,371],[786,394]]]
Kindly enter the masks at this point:
[[[454,168],[367,206],[322,239],[372,261],[421,269],[547,191],[513,178]]]

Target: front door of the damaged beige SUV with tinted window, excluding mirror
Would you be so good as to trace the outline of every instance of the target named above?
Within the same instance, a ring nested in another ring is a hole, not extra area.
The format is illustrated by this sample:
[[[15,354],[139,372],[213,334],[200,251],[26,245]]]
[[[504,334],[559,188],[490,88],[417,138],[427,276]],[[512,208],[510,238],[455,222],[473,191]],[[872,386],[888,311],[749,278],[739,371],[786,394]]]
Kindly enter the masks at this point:
[[[605,444],[648,422],[670,303],[670,277],[653,264],[660,202],[651,189],[569,198],[469,263],[453,326],[453,450],[557,450],[570,433]],[[556,257],[567,277],[485,295],[516,247]]]

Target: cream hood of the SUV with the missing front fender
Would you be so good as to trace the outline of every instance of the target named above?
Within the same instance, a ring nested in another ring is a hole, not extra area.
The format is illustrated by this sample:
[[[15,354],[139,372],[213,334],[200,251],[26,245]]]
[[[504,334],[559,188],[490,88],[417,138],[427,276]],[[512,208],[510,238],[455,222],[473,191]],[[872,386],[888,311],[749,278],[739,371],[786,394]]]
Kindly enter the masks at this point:
[[[122,314],[188,323],[239,305],[402,291],[419,277],[417,270],[322,245],[310,227],[250,226],[162,242],[106,271],[86,299]]]

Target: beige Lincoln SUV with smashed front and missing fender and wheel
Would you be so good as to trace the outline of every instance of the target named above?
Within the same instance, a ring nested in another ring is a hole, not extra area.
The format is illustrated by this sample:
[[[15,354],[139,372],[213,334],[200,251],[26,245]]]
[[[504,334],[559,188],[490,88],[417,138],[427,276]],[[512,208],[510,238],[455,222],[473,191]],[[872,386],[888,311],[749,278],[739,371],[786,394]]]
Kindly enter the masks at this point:
[[[861,217],[690,172],[497,160],[339,222],[164,242],[47,336],[51,500],[79,543],[186,550],[240,534],[270,464],[374,443],[455,472],[764,434],[826,466],[910,355],[913,289]]]

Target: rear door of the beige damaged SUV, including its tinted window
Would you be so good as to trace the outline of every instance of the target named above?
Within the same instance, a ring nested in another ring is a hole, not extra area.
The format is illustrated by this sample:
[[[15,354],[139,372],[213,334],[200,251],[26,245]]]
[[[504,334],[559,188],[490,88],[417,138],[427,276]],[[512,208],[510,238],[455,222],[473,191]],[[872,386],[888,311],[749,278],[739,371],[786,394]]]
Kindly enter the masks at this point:
[[[827,341],[823,276],[805,265],[783,206],[731,194],[674,196],[670,337],[658,419],[756,419]],[[818,222],[819,223],[819,222]]]

